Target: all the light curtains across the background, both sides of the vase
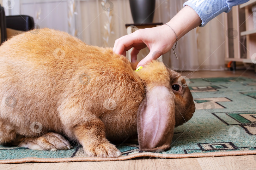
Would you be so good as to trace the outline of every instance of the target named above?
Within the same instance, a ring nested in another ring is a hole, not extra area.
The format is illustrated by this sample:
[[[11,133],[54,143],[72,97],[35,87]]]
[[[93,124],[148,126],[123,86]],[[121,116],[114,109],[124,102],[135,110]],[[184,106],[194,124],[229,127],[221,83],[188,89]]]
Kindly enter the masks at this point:
[[[185,0],[156,0],[153,22],[168,22]],[[87,44],[113,47],[133,23],[129,0],[20,0],[20,13],[34,17],[40,28],[69,32]],[[174,70],[224,70],[225,30],[223,14],[178,41],[177,60],[170,51],[163,62]],[[139,59],[147,55],[140,52]]]

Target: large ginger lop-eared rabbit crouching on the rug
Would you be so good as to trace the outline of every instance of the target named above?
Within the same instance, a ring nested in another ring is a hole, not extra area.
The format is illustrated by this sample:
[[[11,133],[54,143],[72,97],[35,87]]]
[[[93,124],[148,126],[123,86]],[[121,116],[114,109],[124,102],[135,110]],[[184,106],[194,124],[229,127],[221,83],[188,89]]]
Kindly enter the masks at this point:
[[[140,150],[166,150],[174,126],[192,117],[186,81],[161,62],[135,72],[110,48],[51,29],[32,33],[0,47],[1,144],[70,149],[64,135],[89,156],[117,157],[108,140],[138,137]]]

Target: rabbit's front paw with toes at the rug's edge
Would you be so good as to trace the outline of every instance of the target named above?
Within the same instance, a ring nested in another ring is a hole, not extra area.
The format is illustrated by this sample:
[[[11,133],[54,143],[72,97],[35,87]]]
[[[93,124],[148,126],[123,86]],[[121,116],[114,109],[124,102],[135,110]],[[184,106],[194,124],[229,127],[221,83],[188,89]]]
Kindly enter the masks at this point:
[[[115,145],[108,142],[89,146],[87,148],[84,148],[84,151],[89,156],[97,157],[118,157],[121,155],[121,152],[115,147]]]

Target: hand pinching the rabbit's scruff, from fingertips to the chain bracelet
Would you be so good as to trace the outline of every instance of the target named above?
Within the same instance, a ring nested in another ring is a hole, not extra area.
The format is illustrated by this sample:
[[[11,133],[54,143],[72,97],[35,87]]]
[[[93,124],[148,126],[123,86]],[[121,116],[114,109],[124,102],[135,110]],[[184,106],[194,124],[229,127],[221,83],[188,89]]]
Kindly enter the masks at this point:
[[[137,30],[131,34],[123,36],[115,41],[113,51],[116,54],[126,55],[126,51],[131,51],[131,62],[137,61],[137,54],[145,47],[148,47],[149,54],[142,59],[138,66],[144,66],[148,62],[157,59],[162,54],[167,53],[176,42],[174,32],[168,25],[162,25],[154,28]]]

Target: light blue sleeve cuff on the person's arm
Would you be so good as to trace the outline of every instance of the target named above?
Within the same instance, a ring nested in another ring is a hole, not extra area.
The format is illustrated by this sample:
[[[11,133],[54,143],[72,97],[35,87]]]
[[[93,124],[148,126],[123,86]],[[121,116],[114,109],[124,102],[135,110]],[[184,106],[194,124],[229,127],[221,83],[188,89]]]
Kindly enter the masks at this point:
[[[233,6],[248,1],[249,0],[189,0],[185,2],[183,6],[188,5],[196,11],[202,20],[202,25],[200,26],[203,27],[222,12],[229,12]]]

